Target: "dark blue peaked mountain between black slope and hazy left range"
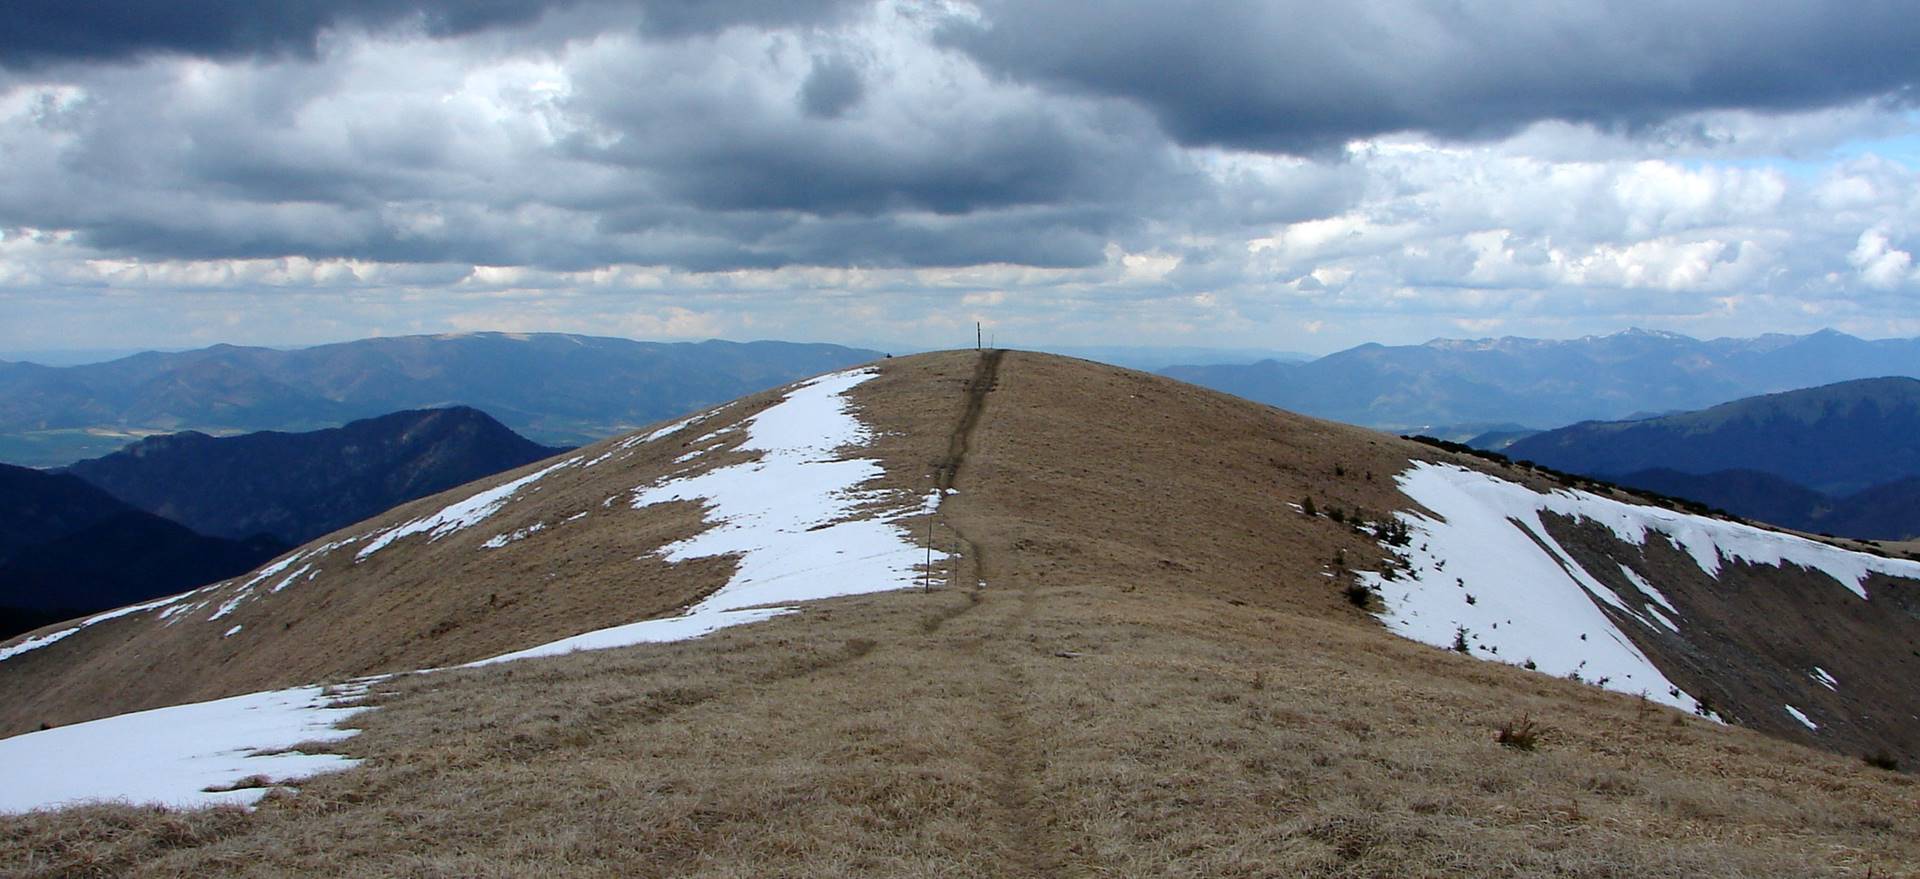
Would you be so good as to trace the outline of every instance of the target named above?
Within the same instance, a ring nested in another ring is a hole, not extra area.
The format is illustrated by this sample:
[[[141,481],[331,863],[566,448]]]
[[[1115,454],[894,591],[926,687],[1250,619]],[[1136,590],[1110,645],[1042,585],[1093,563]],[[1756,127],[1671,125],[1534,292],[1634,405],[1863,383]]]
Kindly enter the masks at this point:
[[[561,451],[451,407],[307,434],[156,436],[67,472],[200,534],[296,545]]]

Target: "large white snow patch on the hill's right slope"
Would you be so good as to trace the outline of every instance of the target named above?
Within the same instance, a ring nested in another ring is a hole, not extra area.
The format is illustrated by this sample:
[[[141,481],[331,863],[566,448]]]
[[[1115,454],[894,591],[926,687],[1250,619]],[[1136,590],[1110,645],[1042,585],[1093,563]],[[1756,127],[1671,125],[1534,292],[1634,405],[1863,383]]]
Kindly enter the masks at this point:
[[[1703,572],[1740,558],[1755,564],[1791,562],[1826,572],[1866,597],[1870,572],[1920,578],[1920,564],[1862,553],[1736,522],[1640,507],[1586,491],[1538,493],[1524,486],[1450,464],[1415,463],[1398,476],[1400,489],[1440,518],[1400,512],[1413,532],[1405,549],[1413,578],[1363,574],[1380,591],[1382,620],[1400,635],[1452,647],[1465,628],[1473,653],[1542,672],[1601,683],[1678,708],[1695,708],[1596,603],[1628,618],[1678,631],[1672,603],[1632,568],[1620,568],[1642,593],[1626,603],[1594,580],[1548,534],[1540,512],[1605,524],[1622,541],[1642,545],[1659,532],[1688,553]],[[1473,603],[1469,603],[1469,595]],[[1498,653],[1496,653],[1498,651]]]

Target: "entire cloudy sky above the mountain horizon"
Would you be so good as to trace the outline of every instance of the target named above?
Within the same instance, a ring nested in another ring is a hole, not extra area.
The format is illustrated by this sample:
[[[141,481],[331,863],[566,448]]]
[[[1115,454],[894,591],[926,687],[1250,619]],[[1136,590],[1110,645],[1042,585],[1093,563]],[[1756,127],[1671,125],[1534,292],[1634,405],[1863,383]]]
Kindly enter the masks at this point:
[[[0,349],[1920,334],[1907,2],[10,10]]]

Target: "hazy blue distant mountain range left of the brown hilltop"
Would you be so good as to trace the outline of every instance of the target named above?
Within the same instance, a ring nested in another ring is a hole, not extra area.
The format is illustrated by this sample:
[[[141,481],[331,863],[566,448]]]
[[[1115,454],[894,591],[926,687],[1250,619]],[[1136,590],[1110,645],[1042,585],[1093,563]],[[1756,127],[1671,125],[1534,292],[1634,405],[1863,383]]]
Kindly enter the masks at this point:
[[[58,466],[150,434],[317,430],[449,405],[478,407],[540,443],[580,445],[877,357],[791,342],[476,332],[0,363],[0,461]]]

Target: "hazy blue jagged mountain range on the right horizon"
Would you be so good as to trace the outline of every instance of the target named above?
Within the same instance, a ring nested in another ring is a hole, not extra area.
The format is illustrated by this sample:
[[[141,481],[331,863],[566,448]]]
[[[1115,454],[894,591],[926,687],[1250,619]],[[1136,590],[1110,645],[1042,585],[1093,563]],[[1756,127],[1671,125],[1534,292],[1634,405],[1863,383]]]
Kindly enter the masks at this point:
[[[1822,330],[1701,342],[1626,330],[1565,342],[1369,344],[1311,363],[1171,367],[1162,374],[1396,432],[1453,424],[1551,428],[1690,411],[1851,378],[1920,376],[1920,340],[1866,342]]]

